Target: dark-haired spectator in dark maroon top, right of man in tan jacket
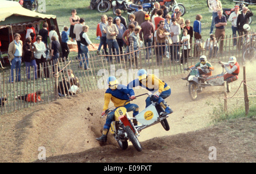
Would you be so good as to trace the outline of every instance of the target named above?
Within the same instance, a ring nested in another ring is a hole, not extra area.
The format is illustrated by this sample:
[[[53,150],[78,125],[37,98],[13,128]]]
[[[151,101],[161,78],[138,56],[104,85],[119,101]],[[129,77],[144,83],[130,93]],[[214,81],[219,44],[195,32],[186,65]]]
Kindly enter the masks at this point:
[[[34,74],[35,74],[35,79],[38,78],[37,76],[37,65],[36,65],[36,60],[34,57],[34,51],[36,50],[35,45],[32,43],[31,38],[28,37],[25,40],[25,44],[23,45],[23,60],[25,61],[26,65],[26,74],[27,74],[27,79],[30,79],[30,66],[34,66]]]

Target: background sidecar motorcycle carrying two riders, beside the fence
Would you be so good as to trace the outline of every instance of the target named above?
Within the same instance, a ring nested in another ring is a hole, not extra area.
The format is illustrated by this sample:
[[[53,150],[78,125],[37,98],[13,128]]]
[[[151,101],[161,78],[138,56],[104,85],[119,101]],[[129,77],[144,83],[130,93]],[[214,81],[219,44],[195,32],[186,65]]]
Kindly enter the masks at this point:
[[[203,91],[203,88],[209,86],[223,86],[224,85],[224,73],[210,76],[208,78],[200,77],[199,68],[185,69],[191,70],[188,77],[188,93],[192,100],[196,100],[197,93]],[[201,69],[206,70],[206,69]],[[208,70],[208,69],[207,69]],[[227,91],[230,91],[230,84],[227,83]]]

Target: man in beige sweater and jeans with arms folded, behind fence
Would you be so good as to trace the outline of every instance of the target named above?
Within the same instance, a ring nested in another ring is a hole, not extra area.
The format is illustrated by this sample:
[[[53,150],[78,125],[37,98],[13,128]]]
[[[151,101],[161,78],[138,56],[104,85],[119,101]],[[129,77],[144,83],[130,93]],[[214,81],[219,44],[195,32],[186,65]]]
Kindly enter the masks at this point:
[[[109,54],[112,55],[112,48],[117,50],[117,54],[119,54],[118,51],[118,43],[116,40],[116,35],[118,35],[118,29],[115,24],[113,24],[113,18],[111,16],[108,17],[108,25],[105,27],[106,30],[106,43],[108,44],[109,47]],[[112,61],[113,57],[110,57],[109,61]],[[117,57],[117,60],[119,60],[119,56]]]

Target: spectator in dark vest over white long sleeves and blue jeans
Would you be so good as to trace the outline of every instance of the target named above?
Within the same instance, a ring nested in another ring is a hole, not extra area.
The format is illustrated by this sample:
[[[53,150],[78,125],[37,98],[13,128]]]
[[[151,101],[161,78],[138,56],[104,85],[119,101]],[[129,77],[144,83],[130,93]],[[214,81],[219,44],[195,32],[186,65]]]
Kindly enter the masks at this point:
[[[88,26],[82,27],[82,32],[80,33],[80,39],[81,39],[81,50],[82,50],[82,61],[80,61],[80,67],[82,67],[82,64],[84,63],[84,69],[89,69],[89,49],[88,46],[92,45],[94,48],[94,45],[92,44],[92,41],[90,41],[88,35],[86,32],[89,31]]]

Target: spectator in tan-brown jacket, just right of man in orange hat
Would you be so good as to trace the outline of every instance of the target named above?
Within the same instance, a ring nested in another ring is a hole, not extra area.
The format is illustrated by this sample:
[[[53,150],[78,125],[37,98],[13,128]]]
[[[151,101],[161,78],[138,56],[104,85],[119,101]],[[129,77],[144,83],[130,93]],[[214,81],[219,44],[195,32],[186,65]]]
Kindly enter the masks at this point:
[[[165,53],[165,41],[166,36],[170,35],[169,32],[167,32],[166,29],[164,29],[164,20],[160,20],[159,22],[160,26],[156,30],[156,44],[158,45],[158,56],[156,56],[156,62],[159,65],[160,62],[162,62],[164,53]]]

